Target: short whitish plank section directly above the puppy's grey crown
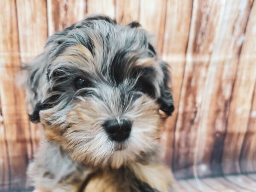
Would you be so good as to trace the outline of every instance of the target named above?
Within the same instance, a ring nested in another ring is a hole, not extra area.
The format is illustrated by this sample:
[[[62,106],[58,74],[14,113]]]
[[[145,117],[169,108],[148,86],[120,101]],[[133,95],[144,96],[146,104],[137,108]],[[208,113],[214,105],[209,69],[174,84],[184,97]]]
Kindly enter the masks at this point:
[[[115,0],[87,0],[87,13],[104,14],[115,17]]]

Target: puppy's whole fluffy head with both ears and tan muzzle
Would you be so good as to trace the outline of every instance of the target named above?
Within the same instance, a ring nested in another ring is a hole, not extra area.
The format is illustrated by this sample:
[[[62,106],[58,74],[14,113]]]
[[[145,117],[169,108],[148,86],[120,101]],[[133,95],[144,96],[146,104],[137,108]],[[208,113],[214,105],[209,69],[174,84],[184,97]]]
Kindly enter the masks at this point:
[[[139,23],[89,17],[52,35],[27,67],[32,122],[74,161],[119,168],[157,151],[174,111],[166,63]]]

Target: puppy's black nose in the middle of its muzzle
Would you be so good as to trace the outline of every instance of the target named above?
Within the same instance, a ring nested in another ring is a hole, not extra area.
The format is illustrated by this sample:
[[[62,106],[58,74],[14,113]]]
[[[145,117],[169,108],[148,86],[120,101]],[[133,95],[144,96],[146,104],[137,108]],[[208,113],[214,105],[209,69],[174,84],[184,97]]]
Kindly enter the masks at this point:
[[[124,141],[131,133],[132,122],[126,119],[111,119],[103,124],[105,131],[111,140],[114,141]]]

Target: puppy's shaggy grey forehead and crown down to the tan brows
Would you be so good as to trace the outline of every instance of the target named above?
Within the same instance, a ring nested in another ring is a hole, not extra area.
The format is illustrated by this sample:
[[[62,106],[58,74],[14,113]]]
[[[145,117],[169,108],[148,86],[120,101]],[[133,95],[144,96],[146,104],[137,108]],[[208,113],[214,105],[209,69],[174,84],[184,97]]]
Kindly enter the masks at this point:
[[[47,45],[50,73],[58,68],[85,71],[93,77],[119,81],[136,67],[152,67],[161,73],[155,52],[143,29],[119,26],[109,18],[87,18],[52,35]],[[50,74],[48,73],[48,74]]]

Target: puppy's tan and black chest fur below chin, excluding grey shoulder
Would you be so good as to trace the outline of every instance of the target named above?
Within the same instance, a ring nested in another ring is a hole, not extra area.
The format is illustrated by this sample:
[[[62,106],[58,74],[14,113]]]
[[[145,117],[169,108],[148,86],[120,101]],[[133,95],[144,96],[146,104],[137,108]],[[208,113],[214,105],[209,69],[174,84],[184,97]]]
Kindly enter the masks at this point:
[[[128,168],[98,171],[89,177],[83,192],[169,192],[172,185],[169,169],[157,163],[132,163]]]

